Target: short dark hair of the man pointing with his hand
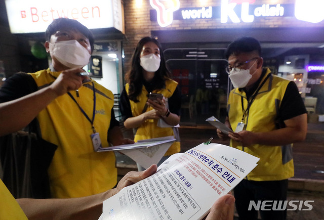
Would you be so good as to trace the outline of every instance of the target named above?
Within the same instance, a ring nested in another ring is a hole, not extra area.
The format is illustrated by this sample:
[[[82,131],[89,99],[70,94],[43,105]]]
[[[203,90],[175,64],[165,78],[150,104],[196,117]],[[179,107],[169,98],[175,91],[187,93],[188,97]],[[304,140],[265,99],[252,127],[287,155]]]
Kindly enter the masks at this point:
[[[69,29],[75,29],[77,31],[79,31],[80,33],[82,33],[83,35],[85,35],[90,42],[90,46],[91,46],[91,52],[93,52],[94,50],[94,42],[95,42],[95,38],[92,34],[92,32],[83,24],[81,24],[80,22],[73,20],[73,19],[69,19],[69,18],[58,18],[53,20],[53,22],[47,27],[46,31],[45,31],[45,39],[47,41],[51,40],[51,36],[56,33],[56,31],[60,30],[61,28],[67,27]]]

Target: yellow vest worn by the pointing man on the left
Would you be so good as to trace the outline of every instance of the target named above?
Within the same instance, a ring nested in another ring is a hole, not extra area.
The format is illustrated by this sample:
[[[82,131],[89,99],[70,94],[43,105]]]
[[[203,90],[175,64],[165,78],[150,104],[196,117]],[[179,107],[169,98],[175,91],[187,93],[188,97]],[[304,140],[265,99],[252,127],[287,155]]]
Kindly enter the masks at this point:
[[[30,75],[38,89],[52,83],[60,72],[41,70]],[[54,76],[54,77],[53,77]],[[109,147],[107,131],[110,125],[113,94],[94,80],[85,82],[71,95],[92,119],[95,85],[96,110],[94,127],[103,147]],[[98,194],[117,183],[115,156],[112,152],[94,152],[91,122],[77,104],[64,94],[53,100],[37,115],[42,138],[58,146],[48,169],[53,198],[75,198]]]

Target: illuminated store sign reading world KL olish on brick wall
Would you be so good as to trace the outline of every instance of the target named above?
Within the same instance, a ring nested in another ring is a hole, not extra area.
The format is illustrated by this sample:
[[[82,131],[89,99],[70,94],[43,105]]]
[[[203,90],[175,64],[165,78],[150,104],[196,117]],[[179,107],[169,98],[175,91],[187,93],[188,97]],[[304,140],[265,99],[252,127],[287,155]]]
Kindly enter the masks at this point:
[[[322,0],[296,0],[295,5],[254,5],[252,2],[255,1],[222,0],[220,7],[179,9],[179,0],[150,0],[152,8],[155,9],[150,11],[150,20],[157,21],[161,27],[172,24],[173,20],[183,19],[220,19],[221,23],[251,23],[259,17],[295,16],[298,20],[312,23],[324,20],[324,13],[321,12],[324,8]]]

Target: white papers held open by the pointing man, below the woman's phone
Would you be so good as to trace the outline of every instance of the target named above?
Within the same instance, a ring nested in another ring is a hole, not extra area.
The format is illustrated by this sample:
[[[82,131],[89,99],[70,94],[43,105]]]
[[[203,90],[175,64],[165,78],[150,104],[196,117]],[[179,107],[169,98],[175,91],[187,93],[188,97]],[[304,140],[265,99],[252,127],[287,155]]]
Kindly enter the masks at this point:
[[[117,145],[108,148],[99,148],[97,152],[120,151],[129,156],[144,168],[158,163],[169,147],[175,142],[173,136],[141,140],[134,144]]]

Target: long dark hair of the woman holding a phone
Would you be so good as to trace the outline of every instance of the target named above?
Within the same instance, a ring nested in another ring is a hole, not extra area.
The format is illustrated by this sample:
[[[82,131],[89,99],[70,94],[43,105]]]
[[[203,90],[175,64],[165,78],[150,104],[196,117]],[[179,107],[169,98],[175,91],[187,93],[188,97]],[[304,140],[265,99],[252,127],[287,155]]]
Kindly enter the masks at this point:
[[[155,72],[154,77],[152,79],[152,84],[154,85],[154,90],[162,89],[165,86],[166,78],[170,78],[170,71],[166,67],[166,61],[164,58],[163,50],[160,43],[151,37],[143,37],[136,46],[136,49],[132,56],[132,66],[131,70],[126,74],[125,78],[129,83],[129,95],[128,98],[134,102],[138,102],[137,100],[138,95],[142,92],[143,87],[143,71],[142,66],[140,65],[140,55],[143,49],[143,46],[147,42],[153,42],[157,45],[158,49],[160,50],[160,67]]]

